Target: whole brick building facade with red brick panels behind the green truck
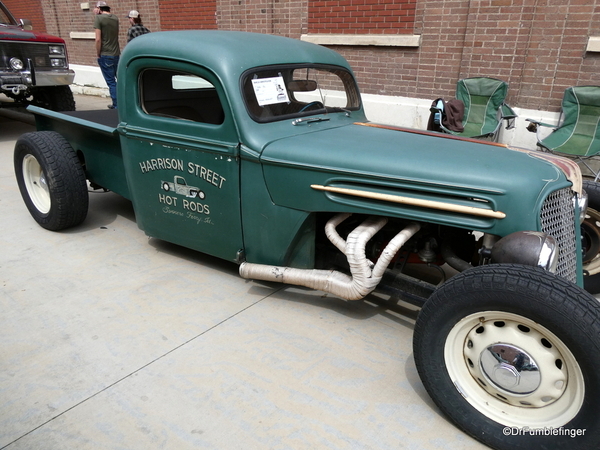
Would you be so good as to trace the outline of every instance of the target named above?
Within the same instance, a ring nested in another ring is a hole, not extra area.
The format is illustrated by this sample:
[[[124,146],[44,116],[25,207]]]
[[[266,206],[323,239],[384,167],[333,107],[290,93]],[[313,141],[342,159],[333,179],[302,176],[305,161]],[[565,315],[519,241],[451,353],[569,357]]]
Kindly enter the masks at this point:
[[[74,64],[95,65],[93,6],[5,0],[15,16],[63,37]],[[600,0],[122,0],[153,31],[224,29],[313,40],[344,55],[365,94],[454,96],[471,76],[510,84],[508,102],[558,111],[566,87],[600,84]],[[42,14],[43,12],[43,14]],[[201,45],[192,43],[191,45]]]

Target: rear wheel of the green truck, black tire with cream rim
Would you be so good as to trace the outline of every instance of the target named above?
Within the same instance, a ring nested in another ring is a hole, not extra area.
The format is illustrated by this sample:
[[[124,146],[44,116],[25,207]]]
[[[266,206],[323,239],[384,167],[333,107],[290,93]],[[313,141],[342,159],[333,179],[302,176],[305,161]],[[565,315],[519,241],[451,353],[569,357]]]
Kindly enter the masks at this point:
[[[21,196],[38,224],[59,231],[85,220],[89,202],[85,173],[60,134],[22,135],[15,145],[14,163]]]

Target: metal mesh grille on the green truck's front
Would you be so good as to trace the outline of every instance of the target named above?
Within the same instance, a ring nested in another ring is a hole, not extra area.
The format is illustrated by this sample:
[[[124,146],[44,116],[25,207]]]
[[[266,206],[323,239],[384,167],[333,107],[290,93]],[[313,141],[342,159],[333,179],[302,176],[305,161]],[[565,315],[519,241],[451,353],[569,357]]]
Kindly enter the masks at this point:
[[[574,194],[571,189],[561,189],[548,196],[540,213],[542,231],[558,243],[557,275],[577,282],[577,256],[575,241]]]

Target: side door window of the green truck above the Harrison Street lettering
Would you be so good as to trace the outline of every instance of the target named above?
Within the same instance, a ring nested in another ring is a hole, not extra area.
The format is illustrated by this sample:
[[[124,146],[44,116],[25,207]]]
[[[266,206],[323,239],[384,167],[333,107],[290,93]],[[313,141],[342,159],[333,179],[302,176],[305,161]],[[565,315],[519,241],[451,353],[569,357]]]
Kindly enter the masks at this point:
[[[189,73],[146,69],[140,76],[142,109],[152,116],[220,125],[225,120],[215,87]]]

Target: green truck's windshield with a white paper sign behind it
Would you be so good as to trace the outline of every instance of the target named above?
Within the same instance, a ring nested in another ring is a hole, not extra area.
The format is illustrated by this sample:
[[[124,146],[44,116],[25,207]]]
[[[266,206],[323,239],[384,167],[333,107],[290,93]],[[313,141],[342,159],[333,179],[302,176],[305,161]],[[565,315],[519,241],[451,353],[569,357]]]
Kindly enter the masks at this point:
[[[244,101],[257,122],[356,111],[360,96],[350,72],[333,66],[261,67],[242,77]]]

